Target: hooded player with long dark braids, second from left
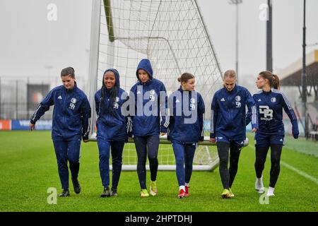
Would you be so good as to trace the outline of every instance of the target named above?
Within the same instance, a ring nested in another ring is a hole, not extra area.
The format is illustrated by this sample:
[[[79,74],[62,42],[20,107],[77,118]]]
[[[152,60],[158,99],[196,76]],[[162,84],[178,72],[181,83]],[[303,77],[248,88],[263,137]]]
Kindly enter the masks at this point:
[[[127,120],[122,114],[121,107],[127,97],[128,94],[120,88],[118,71],[107,69],[102,78],[102,88],[95,94],[100,177],[104,186],[101,197],[117,196],[117,185],[122,172],[122,150],[127,139]],[[110,149],[112,150],[111,190]]]

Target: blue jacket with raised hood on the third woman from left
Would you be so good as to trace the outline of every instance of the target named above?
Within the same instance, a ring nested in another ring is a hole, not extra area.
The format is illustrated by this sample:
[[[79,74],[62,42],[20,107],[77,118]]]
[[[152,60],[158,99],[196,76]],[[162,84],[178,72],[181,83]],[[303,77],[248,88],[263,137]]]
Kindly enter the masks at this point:
[[[132,133],[134,136],[152,136],[155,134],[159,135],[160,132],[167,133],[169,112],[167,110],[165,85],[158,79],[153,78],[153,69],[148,59],[142,59],[139,62],[136,70],[137,78],[139,78],[139,69],[146,71],[150,79],[146,83],[142,83],[139,80],[130,90],[134,94],[135,106],[134,116],[131,115]],[[165,100],[160,100],[160,92],[165,93]],[[145,112],[143,108],[150,109],[151,112]],[[162,118],[161,126],[160,113]]]

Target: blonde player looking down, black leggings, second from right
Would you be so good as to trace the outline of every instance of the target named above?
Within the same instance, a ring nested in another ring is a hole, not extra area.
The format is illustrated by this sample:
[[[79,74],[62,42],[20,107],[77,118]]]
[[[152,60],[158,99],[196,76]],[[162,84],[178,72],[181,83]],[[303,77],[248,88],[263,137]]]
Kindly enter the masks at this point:
[[[214,94],[211,105],[210,141],[216,142],[218,148],[219,171],[224,189],[222,198],[234,196],[231,187],[237,173],[240,150],[246,138],[245,106],[252,112],[252,131],[256,131],[258,127],[257,111],[252,95],[246,88],[236,85],[236,80],[235,71],[225,71],[224,88]]]

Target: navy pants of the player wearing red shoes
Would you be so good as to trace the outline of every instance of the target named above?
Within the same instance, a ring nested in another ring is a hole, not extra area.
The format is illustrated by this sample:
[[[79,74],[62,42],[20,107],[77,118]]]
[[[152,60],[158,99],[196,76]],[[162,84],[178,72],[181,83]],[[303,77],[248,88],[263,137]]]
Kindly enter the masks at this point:
[[[184,183],[189,184],[191,179],[196,143],[182,144],[172,142],[172,148],[175,153],[175,172],[177,174],[178,183],[179,186],[184,186]]]

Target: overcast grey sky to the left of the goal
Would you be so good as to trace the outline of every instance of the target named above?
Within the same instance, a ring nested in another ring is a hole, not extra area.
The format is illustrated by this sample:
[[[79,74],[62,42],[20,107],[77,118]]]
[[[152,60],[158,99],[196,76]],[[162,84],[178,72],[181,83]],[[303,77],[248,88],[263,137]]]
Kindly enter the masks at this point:
[[[47,20],[51,3],[56,21]],[[0,0],[0,76],[59,76],[66,66],[86,75],[90,14],[90,0]]]

